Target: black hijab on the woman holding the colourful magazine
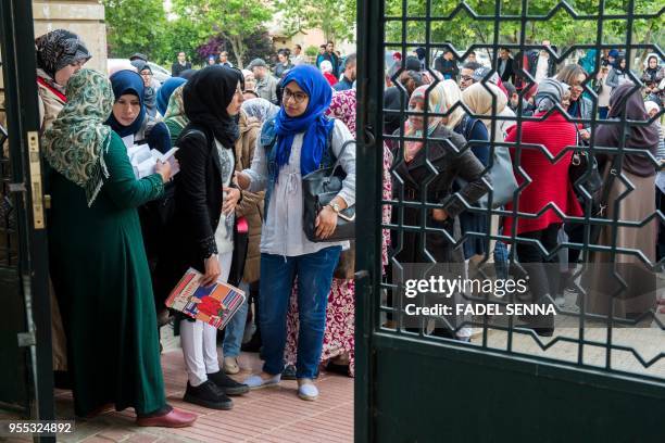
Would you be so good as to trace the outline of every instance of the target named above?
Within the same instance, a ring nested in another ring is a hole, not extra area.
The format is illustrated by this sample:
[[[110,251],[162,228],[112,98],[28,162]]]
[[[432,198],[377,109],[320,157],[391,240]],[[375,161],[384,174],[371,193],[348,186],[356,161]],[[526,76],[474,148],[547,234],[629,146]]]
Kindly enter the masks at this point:
[[[238,116],[226,113],[238,84],[241,88],[244,85],[239,69],[213,65],[197,72],[183,89],[187,118],[211,129],[215,139],[228,149],[234,149],[240,137]]]

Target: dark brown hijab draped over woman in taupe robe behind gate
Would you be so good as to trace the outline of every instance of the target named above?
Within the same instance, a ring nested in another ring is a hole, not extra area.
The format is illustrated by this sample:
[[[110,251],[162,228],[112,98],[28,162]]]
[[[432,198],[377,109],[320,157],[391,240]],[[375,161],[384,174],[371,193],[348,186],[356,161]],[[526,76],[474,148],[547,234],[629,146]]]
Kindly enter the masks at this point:
[[[648,122],[649,114],[639,88],[632,83],[626,83],[612,91],[610,97],[610,113],[607,118],[620,119],[626,115],[627,121]],[[660,132],[655,124],[649,126],[628,126],[626,148],[650,151],[654,156],[658,148]],[[617,148],[624,134],[623,125],[600,125],[597,129],[595,143],[601,147]],[[655,174],[651,160],[641,154],[626,154],[624,168],[631,174],[650,177]]]

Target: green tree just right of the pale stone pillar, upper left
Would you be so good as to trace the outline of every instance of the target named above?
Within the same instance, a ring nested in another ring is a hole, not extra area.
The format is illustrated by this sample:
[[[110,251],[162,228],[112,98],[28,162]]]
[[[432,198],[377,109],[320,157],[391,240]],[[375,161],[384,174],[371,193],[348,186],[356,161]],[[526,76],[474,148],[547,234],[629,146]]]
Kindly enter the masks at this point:
[[[124,59],[142,52],[152,59],[163,52],[167,29],[163,0],[102,0],[102,3],[109,56]]]

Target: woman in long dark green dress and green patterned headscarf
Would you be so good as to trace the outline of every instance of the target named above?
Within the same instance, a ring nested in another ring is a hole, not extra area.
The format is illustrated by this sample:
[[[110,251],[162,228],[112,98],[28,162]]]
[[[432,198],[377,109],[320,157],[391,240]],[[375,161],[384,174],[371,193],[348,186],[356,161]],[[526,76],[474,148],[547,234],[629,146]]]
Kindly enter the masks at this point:
[[[77,416],[134,407],[139,426],[185,427],[166,404],[150,273],[136,207],[159,198],[171,167],[137,180],[121,138],[104,126],[110,81],[81,69],[45,134],[53,168],[49,228],[52,279],[66,325]]]

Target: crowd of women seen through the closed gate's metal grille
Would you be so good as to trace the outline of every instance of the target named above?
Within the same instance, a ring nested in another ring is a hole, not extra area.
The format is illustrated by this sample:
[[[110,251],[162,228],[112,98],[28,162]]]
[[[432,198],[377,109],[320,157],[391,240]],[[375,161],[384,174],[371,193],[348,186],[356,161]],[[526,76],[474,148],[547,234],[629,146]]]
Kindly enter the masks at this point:
[[[662,199],[656,173],[662,174],[665,151],[658,118],[654,118],[661,115],[660,100],[654,101],[662,90],[654,85],[656,79],[662,81],[663,68],[655,58],[650,58],[643,87],[639,87],[633,81],[637,77],[631,79],[622,71],[623,55],[611,54],[616,60],[611,61],[608,80],[603,81],[604,69],[598,73],[608,102],[603,104],[599,98],[600,116],[595,117],[592,100],[584,89],[594,72],[585,71],[582,63],[562,66],[553,77],[532,84],[520,94],[486,67],[472,69],[472,75],[463,76],[460,84],[431,69],[421,71],[419,54],[406,58],[401,71],[392,69],[396,74],[388,75],[387,83],[402,85],[400,89],[387,89],[388,112],[384,115],[389,128],[385,136],[399,159],[394,164],[393,193],[396,198],[441,205],[427,213],[421,206],[406,205],[393,211],[393,226],[431,228],[396,228],[396,260],[446,263],[451,270],[454,264],[464,264],[459,268],[469,276],[474,264],[486,257],[491,262],[487,236],[491,232],[501,239],[492,251],[497,276],[507,276],[510,248],[511,256],[520,265],[511,267],[511,271],[528,275],[531,302],[555,301],[572,311],[584,305],[588,314],[612,313],[631,319],[654,313],[658,304],[665,304],[656,300],[654,274],[663,256],[656,254],[662,224],[650,218]],[[475,68],[467,65],[463,65],[463,72]],[[618,81],[622,76],[628,79]],[[403,102],[407,107],[403,111],[409,114],[400,113],[402,110],[396,105],[400,94],[406,96]],[[425,110],[429,114],[427,122],[419,115]],[[516,114],[526,118],[516,124]],[[627,121],[626,136],[622,119]],[[592,126],[592,121],[599,124]],[[490,140],[498,144],[490,148]],[[590,144],[605,150],[590,152]],[[510,151],[512,165],[507,168],[500,164],[502,150]],[[618,154],[618,150],[627,152]],[[430,179],[432,167],[437,175]],[[498,169],[504,174],[491,174]],[[590,179],[591,173],[598,175],[595,180]],[[501,179],[492,181],[491,176]],[[481,202],[490,188],[494,195],[502,190],[512,195],[497,207],[502,216],[491,224],[487,203]],[[622,199],[627,190],[629,198]],[[599,223],[591,228],[597,233],[587,240],[595,246],[615,245],[616,256],[598,250],[582,257],[586,216],[617,221],[617,227]],[[582,258],[591,266],[579,280],[577,264]],[[625,291],[619,291],[612,263],[619,264],[620,278],[630,282]],[[564,291],[574,290],[576,300],[566,306]],[[461,302],[469,303],[468,299]],[[551,316],[523,319],[540,336],[554,332]],[[467,324],[460,326],[443,331],[437,328],[435,334],[468,340]]]

